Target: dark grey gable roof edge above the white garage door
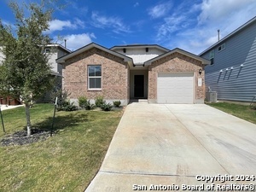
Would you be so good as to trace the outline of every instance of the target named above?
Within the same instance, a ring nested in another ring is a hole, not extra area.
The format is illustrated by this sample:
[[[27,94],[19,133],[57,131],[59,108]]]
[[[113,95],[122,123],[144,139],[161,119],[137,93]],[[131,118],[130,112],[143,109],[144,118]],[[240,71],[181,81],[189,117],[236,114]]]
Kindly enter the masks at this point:
[[[157,57],[154,57],[154,58],[151,59],[151,60],[148,60],[148,61],[144,62],[144,65],[145,65],[145,66],[148,66],[148,65],[150,65],[152,62],[157,61],[157,60],[160,60],[161,58],[166,57],[167,55],[171,55],[171,54],[173,54],[173,53],[179,53],[179,54],[182,54],[182,55],[187,55],[187,56],[189,56],[189,57],[191,57],[191,58],[193,58],[193,59],[195,59],[195,60],[197,60],[197,61],[201,61],[202,64],[204,64],[204,65],[210,64],[210,61],[207,60],[207,59],[204,59],[204,58],[202,58],[202,57],[200,57],[200,56],[198,56],[198,55],[194,55],[194,54],[192,54],[192,53],[189,53],[188,51],[185,51],[185,50],[183,50],[183,49],[178,49],[178,48],[176,48],[176,49],[170,50],[170,51],[167,52],[166,54],[159,55],[159,56],[157,56]]]

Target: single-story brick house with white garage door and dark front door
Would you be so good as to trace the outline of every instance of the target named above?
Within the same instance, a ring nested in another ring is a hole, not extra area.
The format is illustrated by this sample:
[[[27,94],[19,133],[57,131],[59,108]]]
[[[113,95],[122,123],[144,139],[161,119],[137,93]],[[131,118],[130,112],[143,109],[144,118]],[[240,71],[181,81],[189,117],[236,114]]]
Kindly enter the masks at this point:
[[[210,61],[183,49],[155,44],[114,46],[91,43],[56,60],[62,64],[62,88],[71,102],[131,99],[149,103],[203,103],[204,67]]]

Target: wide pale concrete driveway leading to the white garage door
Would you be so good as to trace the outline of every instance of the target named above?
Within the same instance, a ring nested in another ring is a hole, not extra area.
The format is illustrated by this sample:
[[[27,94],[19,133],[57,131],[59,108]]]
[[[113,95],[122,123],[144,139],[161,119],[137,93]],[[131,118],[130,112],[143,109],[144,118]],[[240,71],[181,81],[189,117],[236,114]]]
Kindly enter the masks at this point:
[[[255,173],[256,125],[203,104],[132,103],[85,191],[206,190],[212,184],[207,176],[216,189],[223,178],[256,183],[236,179]]]

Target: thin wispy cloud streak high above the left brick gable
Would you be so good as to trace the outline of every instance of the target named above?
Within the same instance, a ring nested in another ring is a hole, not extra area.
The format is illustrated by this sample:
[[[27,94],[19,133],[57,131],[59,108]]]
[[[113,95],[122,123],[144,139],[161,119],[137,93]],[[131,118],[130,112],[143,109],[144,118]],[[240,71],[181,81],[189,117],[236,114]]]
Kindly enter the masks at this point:
[[[97,12],[93,12],[91,15],[92,25],[98,28],[112,28],[115,33],[131,32],[129,26],[125,26],[123,21],[119,17],[108,17],[99,15]]]

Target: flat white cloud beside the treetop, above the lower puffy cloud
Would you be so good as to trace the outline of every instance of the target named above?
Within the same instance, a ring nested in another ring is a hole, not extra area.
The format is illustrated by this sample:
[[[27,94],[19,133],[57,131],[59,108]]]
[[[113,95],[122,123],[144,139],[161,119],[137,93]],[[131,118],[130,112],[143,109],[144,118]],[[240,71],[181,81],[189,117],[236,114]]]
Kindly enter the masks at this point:
[[[84,21],[79,19],[70,20],[51,20],[49,22],[49,32],[62,31],[64,29],[84,28]]]

